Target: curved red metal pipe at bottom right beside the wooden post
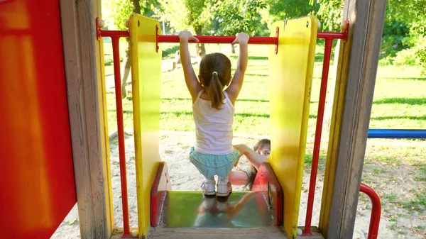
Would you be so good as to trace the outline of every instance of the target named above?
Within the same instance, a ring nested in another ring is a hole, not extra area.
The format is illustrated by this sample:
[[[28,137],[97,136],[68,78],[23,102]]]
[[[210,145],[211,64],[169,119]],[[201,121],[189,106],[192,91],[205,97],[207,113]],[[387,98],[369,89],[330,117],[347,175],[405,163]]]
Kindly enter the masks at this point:
[[[371,217],[370,217],[370,227],[368,228],[368,239],[376,239],[378,235],[378,226],[380,225],[380,216],[381,216],[381,202],[376,194],[376,191],[368,187],[366,184],[361,184],[359,191],[367,194],[371,199]]]

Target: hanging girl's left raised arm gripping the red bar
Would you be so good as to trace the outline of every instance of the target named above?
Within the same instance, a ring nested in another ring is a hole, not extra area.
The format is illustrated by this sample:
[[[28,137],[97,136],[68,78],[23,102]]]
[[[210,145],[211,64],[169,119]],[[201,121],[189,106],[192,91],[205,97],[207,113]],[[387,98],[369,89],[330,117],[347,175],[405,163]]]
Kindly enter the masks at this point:
[[[185,82],[187,84],[187,88],[190,91],[192,96],[192,103],[197,99],[198,92],[202,89],[202,85],[198,82],[197,76],[195,75],[194,68],[191,65],[191,56],[190,50],[188,48],[188,41],[195,40],[195,42],[199,42],[197,38],[195,38],[192,33],[187,30],[183,30],[179,33],[180,39],[180,62],[182,62],[183,74],[185,75]]]

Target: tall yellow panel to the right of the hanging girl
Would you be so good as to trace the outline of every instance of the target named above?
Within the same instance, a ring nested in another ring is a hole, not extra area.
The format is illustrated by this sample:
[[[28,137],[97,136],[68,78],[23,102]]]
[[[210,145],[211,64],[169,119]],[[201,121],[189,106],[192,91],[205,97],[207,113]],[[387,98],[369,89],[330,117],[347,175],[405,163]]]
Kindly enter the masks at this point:
[[[284,228],[296,238],[317,40],[314,16],[280,21],[278,54],[269,50],[271,91],[271,163],[284,191]]]

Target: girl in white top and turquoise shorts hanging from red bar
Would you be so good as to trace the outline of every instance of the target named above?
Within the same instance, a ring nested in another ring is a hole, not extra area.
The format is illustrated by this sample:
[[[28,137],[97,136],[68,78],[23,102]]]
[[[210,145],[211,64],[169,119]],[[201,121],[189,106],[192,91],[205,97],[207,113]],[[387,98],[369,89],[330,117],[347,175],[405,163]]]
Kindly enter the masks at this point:
[[[232,191],[229,172],[236,165],[240,153],[232,146],[234,104],[243,85],[248,62],[249,35],[238,33],[232,44],[239,44],[234,77],[231,61],[222,53],[212,53],[200,62],[200,74],[191,65],[188,42],[199,40],[189,31],[179,33],[180,57],[187,88],[192,96],[196,144],[190,150],[190,161],[203,174],[204,195],[228,196]],[[226,86],[229,86],[224,90]],[[218,176],[217,193],[215,191]]]

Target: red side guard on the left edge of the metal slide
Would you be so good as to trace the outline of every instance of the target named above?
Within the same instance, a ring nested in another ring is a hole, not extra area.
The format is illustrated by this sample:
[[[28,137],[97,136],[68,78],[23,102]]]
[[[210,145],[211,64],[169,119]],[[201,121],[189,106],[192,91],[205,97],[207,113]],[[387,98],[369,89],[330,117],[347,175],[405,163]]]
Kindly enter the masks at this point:
[[[158,226],[161,209],[163,209],[166,191],[172,190],[167,164],[160,162],[151,188],[151,226]]]

